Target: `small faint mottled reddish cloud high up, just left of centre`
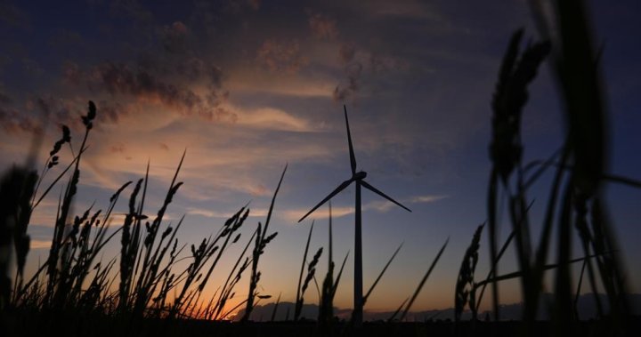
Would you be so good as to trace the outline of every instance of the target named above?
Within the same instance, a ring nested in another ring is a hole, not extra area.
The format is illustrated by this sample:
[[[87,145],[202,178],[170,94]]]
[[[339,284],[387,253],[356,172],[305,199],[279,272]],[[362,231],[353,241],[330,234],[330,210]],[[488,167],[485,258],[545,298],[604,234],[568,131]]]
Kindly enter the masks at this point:
[[[258,49],[256,61],[264,68],[275,72],[296,73],[308,60],[300,51],[297,40],[276,41],[267,39]]]

